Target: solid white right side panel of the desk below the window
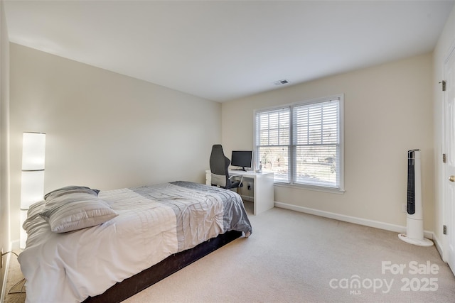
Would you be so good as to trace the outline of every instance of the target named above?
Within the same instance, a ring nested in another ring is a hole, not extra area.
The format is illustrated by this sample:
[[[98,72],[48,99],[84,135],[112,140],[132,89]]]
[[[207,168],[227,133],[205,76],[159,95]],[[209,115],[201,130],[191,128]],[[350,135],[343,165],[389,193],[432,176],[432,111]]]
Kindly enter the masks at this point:
[[[254,214],[260,214],[274,206],[273,174],[256,175]]]

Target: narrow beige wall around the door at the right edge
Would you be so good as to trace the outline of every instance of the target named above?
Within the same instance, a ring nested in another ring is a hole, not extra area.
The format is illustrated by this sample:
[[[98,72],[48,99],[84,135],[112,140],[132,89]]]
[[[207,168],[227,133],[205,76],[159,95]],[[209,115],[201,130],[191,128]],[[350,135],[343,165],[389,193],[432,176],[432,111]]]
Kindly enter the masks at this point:
[[[444,31],[442,31],[437,46],[434,48],[433,53],[433,66],[434,74],[432,86],[434,89],[433,94],[433,105],[434,105],[434,167],[435,167],[435,238],[438,243],[443,245],[445,239],[442,235],[442,226],[446,224],[444,220],[444,204],[442,200],[442,182],[443,182],[443,164],[442,164],[442,154],[444,153],[442,146],[442,123],[443,123],[443,94],[441,91],[441,82],[444,79],[444,61],[449,56],[449,51],[455,48],[455,6],[452,9],[449,19],[444,26]],[[452,223],[454,223],[452,219]]]

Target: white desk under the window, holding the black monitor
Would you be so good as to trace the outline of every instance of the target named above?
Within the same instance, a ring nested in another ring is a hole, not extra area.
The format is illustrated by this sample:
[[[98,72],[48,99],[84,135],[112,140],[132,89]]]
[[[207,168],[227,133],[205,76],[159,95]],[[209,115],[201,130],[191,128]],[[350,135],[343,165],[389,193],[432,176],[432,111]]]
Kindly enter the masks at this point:
[[[248,179],[253,180],[253,205],[254,214],[260,214],[267,209],[274,206],[274,193],[273,193],[273,172],[254,172],[249,170],[230,170],[229,175],[242,175],[243,186],[249,182]],[[245,180],[247,179],[247,180]],[[205,170],[205,184],[211,185],[212,173],[210,170]]]

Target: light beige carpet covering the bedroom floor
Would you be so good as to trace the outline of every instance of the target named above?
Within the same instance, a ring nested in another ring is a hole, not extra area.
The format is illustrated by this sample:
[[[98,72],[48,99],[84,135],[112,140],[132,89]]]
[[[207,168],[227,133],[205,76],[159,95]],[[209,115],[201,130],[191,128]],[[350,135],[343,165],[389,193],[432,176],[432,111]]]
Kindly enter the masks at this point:
[[[250,238],[125,302],[455,302],[455,277],[434,246],[287,209],[250,221]]]

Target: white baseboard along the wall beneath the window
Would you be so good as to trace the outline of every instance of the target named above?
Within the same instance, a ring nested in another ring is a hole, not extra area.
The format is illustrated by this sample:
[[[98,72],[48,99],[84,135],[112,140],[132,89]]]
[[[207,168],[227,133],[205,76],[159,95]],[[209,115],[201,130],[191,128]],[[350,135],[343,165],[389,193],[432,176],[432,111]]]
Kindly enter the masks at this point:
[[[282,209],[300,211],[300,212],[304,212],[306,214],[314,214],[316,216],[323,216],[324,218],[336,219],[339,221],[345,221],[345,222],[349,222],[349,223],[370,226],[370,227],[374,227],[374,228],[380,228],[380,229],[384,229],[386,231],[395,231],[396,233],[405,233],[406,232],[406,226],[389,224],[389,223],[385,223],[385,222],[381,222],[381,221],[362,219],[362,218],[358,218],[355,216],[346,216],[343,214],[336,214],[336,213],[333,213],[330,211],[321,211],[319,209],[310,209],[308,207],[296,206],[296,205],[286,204],[286,203],[282,203],[282,202],[275,202],[274,205],[276,207],[280,207]],[[434,235],[434,233],[432,231],[424,231],[425,238],[432,239],[433,235]]]

